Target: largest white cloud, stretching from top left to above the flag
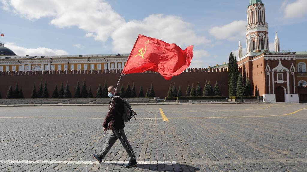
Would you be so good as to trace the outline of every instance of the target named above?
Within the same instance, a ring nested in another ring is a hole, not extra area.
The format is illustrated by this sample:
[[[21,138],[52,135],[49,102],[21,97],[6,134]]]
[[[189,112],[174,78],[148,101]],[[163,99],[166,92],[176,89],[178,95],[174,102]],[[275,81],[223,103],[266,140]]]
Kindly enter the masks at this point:
[[[177,16],[150,15],[143,20],[126,22],[104,0],[1,0],[3,9],[29,20],[51,18],[59,28],[77,26],[86,37],[106,42],[111,36],[112,50],[130,53],[138,34],[176,43],[185,49],[189,45],[206,45],[210,40],[198,36],[192,25]]]

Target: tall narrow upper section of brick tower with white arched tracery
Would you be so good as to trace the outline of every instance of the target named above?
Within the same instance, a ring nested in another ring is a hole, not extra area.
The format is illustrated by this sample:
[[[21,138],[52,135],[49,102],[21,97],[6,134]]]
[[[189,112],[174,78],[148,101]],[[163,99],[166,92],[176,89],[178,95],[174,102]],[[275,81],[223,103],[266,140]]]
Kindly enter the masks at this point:
[[[269,51],[268,24],[261,0],[250,0],[247,7],[246,41],[250,45],[247,53]]]

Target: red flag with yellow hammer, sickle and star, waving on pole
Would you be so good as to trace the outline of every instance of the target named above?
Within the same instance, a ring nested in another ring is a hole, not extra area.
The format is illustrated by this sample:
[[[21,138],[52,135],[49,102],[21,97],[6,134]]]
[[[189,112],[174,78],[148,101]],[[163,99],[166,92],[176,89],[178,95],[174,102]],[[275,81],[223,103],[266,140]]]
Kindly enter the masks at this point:
[[[191,63],[193,46],[182,50],[176,44],[139,35],[122,74],[159,72],[166,80],[181,74]]]

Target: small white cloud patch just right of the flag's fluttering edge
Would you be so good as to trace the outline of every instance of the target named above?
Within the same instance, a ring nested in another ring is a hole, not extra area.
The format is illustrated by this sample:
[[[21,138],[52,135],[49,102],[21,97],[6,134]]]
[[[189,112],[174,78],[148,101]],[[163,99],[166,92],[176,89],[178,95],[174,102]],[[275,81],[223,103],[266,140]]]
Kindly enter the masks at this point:
[[[193,50],[193,58],[189,68],[206,68],[209,66],[211,54],[206,50]]]

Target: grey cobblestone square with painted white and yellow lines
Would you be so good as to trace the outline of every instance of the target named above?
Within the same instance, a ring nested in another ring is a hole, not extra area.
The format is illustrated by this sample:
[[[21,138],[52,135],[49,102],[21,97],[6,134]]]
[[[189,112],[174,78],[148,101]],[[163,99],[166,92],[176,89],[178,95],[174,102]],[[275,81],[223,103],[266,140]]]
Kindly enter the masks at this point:
[[[0,107],[0,171],[307,171],[306,104],[133,106],[99,164],[107,106]]]

